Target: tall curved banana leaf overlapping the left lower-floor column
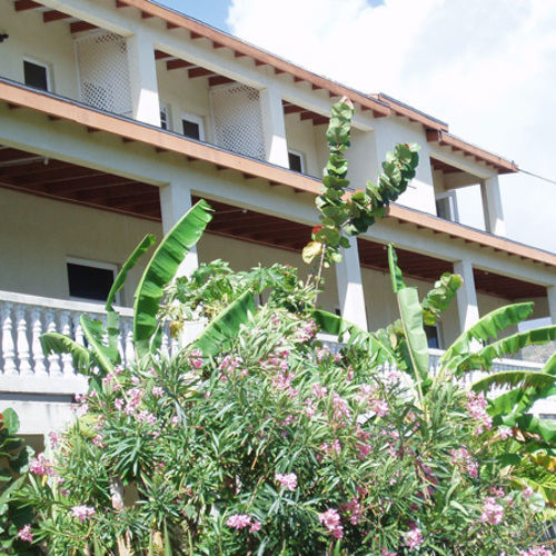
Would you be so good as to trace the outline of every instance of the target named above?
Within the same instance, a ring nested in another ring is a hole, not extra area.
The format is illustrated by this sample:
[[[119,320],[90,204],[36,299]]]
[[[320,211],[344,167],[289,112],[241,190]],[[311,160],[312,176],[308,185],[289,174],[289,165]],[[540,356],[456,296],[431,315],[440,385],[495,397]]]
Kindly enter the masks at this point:
[[[205,200],[188,210],[162,239],[142,275],[133,307],[133,341],[138,359],[142,359],[151,349],[163,288],[172,280],[185,255],[197,244],[212,219],[211,210]]]

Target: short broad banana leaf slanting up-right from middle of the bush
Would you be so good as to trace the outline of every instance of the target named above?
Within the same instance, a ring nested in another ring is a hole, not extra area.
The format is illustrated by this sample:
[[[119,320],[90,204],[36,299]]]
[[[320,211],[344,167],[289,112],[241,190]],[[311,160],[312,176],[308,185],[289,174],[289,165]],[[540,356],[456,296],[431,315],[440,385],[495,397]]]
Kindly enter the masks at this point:
[[[230,347],[231,340],[237,336],[239,327],[247,322],[249,314],[254,312],[254,295],[252,291],[248,290],[209,322],[193,342],[193,347],[200,349],[205,357],[214,357],[226,351]]]

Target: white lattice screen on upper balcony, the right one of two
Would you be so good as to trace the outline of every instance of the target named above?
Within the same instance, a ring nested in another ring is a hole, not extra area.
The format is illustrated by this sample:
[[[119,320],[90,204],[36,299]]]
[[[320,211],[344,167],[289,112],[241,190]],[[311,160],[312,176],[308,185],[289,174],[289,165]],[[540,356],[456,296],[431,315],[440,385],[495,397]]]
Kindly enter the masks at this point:
[[[219,147],[265,159],[259,91],[245,85],[210,89],[215,141]]]

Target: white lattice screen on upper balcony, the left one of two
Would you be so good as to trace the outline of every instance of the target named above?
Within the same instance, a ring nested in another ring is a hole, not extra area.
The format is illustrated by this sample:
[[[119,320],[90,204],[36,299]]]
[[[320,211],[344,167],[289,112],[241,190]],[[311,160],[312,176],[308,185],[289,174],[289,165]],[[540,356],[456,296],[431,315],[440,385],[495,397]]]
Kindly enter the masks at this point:
[[[102,32],[76,39],[81,101],[122,116],[132,115],[126,39]]]

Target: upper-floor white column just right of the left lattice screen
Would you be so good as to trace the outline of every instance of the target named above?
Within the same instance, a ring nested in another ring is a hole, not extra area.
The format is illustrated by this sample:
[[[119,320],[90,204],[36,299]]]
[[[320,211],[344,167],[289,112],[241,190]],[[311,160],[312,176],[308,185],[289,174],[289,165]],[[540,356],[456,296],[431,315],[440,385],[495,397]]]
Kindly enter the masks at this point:
[[[155,46],[138,33],[128,38],[127,49],[133,118],[160,126]]]

